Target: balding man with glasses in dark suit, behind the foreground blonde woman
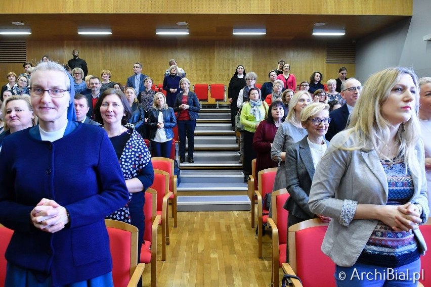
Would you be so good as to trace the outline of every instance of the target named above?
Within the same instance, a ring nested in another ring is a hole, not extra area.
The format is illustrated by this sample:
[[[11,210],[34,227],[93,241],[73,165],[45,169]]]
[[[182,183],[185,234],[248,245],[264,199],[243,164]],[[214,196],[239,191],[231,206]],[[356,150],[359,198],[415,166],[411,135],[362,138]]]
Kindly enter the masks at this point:
[[[326,139],[331,140],[338,132],[345,129],[348,125],[349,116],[355,107],[356,101],[359,99],[362,85],[355,78],[349,78],[341,85],[341,97],[346,100],[341,108],[333,110],[329,113],[331,122],[329,123]]]

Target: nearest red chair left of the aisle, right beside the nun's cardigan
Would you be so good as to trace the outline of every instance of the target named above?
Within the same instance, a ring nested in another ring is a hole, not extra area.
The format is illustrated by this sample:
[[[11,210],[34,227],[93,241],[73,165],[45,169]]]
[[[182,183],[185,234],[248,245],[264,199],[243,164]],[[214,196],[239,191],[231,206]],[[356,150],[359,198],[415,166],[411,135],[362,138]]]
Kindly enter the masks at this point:
[[[136,286],[145,264],[138,264],[138,228],[125,222],[105,219],[112,256],[114,286]]]

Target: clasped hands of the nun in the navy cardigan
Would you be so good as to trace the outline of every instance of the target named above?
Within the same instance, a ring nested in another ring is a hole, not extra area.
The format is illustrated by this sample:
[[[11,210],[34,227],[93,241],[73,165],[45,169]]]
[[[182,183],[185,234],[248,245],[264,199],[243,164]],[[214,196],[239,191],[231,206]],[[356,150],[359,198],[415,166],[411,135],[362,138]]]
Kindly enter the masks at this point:
[[[36,228],[50,233],[60,231],[69,223],[66,208],[46,198],[33,208],[30,218]]]

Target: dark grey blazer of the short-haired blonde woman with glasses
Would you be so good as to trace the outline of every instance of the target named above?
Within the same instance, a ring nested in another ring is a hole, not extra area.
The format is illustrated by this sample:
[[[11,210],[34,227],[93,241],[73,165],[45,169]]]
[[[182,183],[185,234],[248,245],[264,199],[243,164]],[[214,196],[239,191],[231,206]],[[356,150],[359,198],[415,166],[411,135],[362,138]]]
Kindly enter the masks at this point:
[[[284,204],[284,209],[296,217],[312,219],[315,214],[310,211],[308,201],[315,170],[307,137],[286,149],[285,169],[290,197]],[[329,141],[325,141],[329,147]]]

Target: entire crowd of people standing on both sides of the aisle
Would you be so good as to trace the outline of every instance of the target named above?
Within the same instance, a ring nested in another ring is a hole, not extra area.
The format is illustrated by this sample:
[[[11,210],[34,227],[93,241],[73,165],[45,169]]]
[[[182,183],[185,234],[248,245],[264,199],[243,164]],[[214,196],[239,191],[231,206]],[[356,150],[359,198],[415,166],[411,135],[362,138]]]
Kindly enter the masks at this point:
[[[194,163],[200,107],[174,59],[165,95],[152,89],[140,63],[122,86],[109,70],[88,75],[79,52],[72,55],[65,66],[48,56],[36,67],[26,62],[25,72],[8,73],[2,86],[0,223],[15,230],[6,285],[112,286],[103,220],[135,225],[141,247],[144,192],[154,180],[144,139],[153,156],[170,157],[178,126],[180,163],[186,137]],[[430,203],[431,78],[388,68],[363,87],[346,75],[341,67],[325,86],[315,71],[296,85],[290,65],[279,61],[258,88],[256,73],[239,65],[228,101],[232,126],[242,126],[244,174],[253,158],[256,172],[277,167],[273,190],[290,194],[286,228],[311,218],[329,222],[322,251],[336,274],[417,272],[426,250],[418,225]],[[335,278],[338,286],[367,285]]]

